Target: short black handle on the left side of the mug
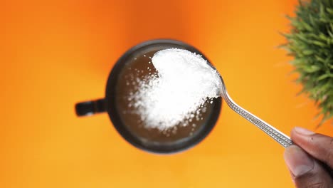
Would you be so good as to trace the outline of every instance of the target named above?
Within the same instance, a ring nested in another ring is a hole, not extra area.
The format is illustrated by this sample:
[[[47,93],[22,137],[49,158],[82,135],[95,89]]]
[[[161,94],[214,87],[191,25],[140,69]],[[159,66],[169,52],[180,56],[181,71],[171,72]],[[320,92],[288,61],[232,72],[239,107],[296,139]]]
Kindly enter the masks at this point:
[[[105,99],[90,100],[75,104],[75,113],[78,116],[94,115],[96,113],[105,113]]]

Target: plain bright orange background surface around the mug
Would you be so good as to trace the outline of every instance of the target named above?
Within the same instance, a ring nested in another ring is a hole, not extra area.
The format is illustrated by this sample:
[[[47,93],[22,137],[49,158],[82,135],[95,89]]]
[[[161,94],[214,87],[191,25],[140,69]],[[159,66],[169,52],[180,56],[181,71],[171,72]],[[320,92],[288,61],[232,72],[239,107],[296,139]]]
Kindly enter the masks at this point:
[[[199,48],[237,103],[289,135],[314,130],[290,57],[276,48],[296,0],[3,1],[0,187],[292,187],[284,149],[223,106],[199,145],[152,155],[120,137],[107,114],[78,118],[100,98],[117,58],[175,38]],[[333,135],[327,122],[317,129]]]

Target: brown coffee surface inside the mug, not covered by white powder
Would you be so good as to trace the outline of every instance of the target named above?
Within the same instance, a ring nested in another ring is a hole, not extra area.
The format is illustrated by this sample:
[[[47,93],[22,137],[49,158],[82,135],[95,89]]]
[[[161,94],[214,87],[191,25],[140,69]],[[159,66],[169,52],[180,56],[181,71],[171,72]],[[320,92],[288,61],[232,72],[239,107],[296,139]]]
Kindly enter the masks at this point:
[[[129,100],[129,96],[137,91],[137,84],[140,80],[157,73],[151,63],[151,58],[159,50],[162,49],[154,48],[134,54],[127,62],[127,66],[122,69],[116,88],[117,112],[120,113],[120,118],[127,129],[142,142],[175,142],[193,137],[206,125],[213,108],[213,105],[206,101],[203,107],[199,109],[199,118],[194,117],[186,126],[180,123],[168,130],[159,130],[157,128],[147,128],[144,125],[137,109],[131,105],[133,101]]]

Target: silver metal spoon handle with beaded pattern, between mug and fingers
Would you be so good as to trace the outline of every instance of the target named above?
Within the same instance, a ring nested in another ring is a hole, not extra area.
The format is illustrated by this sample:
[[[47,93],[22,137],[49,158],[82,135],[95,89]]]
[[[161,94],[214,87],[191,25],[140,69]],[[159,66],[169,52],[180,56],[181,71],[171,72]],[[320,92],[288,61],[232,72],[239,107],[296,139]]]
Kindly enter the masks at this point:
[[[226,100],[226,103],[231,109],[233,109],[236,113],[244,117],[249,122],[252,122],[258,128],[260,128],[260,130],[263,130],[263,132],[272,137],[276,142],[280,143],[280,145],[282,145],[283,147],[289,147],[290,145],[293,145],[293,142],[292,140],[290,140],[290,137],[283,134],[282,132],[280,132],[280,130],[277,130],[272,125],[261,120],[259,117],[249,113],[247,110],[241,108],[239,105],[233,102],[233,100],[230,98],[230,95],[228,95],[226,90],[224,90],[222,96],[224,100]]]

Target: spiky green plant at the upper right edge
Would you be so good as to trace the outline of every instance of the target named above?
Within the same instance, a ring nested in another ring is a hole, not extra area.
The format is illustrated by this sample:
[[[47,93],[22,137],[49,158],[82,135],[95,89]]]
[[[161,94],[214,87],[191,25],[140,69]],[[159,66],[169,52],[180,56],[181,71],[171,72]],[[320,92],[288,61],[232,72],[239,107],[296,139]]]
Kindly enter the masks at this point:
[[[294,57],[297,79],[320,109],[322,121],[333,117],[333,1],[299,1],[290,33],[282,45]]]

